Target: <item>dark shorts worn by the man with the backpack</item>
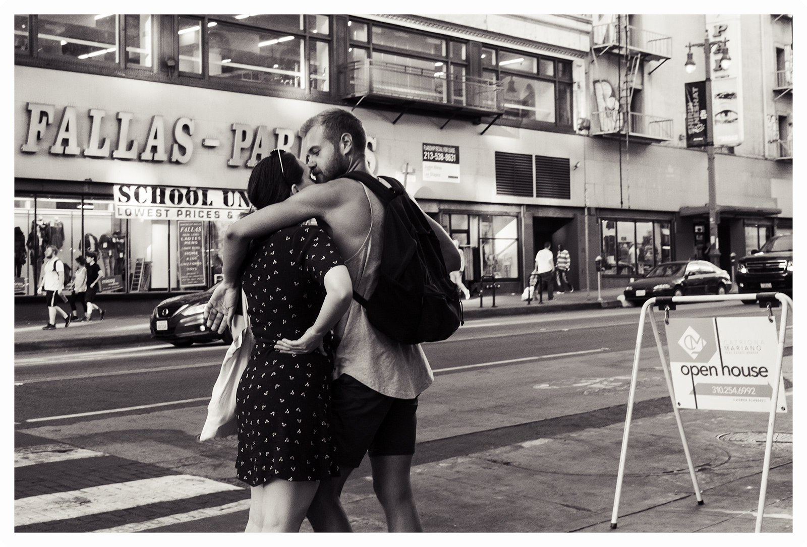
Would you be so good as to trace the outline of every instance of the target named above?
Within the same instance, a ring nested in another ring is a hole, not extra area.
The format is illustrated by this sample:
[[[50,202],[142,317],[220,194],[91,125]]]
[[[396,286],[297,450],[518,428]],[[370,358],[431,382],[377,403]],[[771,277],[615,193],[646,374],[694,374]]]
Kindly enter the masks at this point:
[[[337,464],[356,468],[374,456],[415,453],[417,397],[396,399],[342,374],[331,384],[332,439]]]

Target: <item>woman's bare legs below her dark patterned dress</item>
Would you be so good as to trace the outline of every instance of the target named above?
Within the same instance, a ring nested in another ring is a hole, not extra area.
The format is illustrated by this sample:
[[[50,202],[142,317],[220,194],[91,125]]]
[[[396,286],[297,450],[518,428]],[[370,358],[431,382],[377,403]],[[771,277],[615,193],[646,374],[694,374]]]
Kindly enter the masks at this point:
[[[274,479],[252,487],[245,532],[299,532],[319,481]]]

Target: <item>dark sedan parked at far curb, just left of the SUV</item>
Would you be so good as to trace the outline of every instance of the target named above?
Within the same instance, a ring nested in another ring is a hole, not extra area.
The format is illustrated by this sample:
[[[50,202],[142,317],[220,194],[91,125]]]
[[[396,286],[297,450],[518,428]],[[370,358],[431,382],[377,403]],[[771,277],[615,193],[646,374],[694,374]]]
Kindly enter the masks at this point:
[[[707,261],[665,262],[625,287],[625,299],[644,302],[654,296],[725,294],[731,290],[731,277]]]

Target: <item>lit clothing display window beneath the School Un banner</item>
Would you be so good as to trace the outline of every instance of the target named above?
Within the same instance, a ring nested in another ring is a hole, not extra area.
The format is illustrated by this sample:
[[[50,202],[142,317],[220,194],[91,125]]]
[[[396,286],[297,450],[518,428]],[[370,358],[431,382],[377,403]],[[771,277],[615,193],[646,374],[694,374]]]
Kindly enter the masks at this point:
[[[96,253],[102,293],[205,290],[221,280],[224,234],[238,218],[116,218],[112,196],[18,192],[14,202],[17,295],[36,294],[50,244],[73,269]]]

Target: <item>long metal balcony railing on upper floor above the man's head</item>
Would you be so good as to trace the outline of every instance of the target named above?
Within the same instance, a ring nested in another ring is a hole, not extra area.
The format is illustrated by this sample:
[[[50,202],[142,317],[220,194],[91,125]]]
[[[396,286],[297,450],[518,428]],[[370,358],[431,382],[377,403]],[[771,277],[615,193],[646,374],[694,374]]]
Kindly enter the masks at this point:
[[[502,86],[495,80],[453,77],[436,69],[419,69],[366,59],[342,67],[343,98],[369,95],[464,107],[470,111],[501,112]]]

